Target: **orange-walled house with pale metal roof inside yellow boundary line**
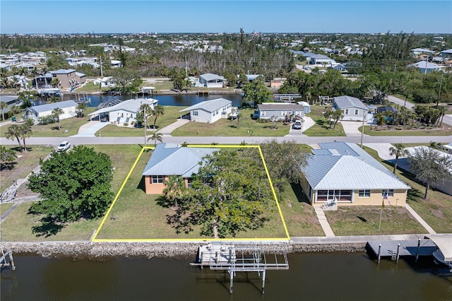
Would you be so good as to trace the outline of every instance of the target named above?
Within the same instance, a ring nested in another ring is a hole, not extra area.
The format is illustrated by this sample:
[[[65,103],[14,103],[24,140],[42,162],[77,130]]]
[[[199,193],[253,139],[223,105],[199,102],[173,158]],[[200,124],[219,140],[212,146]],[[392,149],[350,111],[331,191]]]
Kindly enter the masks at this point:
[[[183,177],[185,186],[189,187],[191,176],[198,172],[203,158],[215,151],[220,149],[181,147],[176,143],[157,144],[143,170],[145,193],[161,194],[170,175]]]

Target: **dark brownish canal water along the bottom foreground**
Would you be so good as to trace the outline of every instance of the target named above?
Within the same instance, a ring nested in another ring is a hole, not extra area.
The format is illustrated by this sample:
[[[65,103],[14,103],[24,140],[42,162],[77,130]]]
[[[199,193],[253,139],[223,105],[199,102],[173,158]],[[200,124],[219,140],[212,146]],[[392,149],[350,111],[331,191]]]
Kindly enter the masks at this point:
[[[365,253],[290,254],[287,271],[239,273],[189,266],[194,258],[45,259],[16,254],[1,271],[1,300],[452,300],[452,274],[432,258],[379,265]]]

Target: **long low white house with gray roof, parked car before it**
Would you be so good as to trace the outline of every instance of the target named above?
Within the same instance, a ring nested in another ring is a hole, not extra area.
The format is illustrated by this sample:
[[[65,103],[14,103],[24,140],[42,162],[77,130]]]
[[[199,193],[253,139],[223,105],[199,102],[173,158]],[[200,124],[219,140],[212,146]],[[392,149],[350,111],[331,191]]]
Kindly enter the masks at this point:
[[[257,105],[259,119],[285,119],[292,115],[292,117],[304,117],[304,105],[287,102],[264,102]]]

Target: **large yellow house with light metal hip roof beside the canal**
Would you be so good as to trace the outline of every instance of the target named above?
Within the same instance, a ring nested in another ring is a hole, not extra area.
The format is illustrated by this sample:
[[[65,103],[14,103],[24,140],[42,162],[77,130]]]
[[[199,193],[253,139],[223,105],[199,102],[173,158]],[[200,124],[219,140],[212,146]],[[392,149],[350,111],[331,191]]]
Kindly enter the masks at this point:
[[[405,206],[411,189],[355,143],[319,143],[302,166],[301,186],[313,206]],[[387,203],[386,203],[387,204]]]

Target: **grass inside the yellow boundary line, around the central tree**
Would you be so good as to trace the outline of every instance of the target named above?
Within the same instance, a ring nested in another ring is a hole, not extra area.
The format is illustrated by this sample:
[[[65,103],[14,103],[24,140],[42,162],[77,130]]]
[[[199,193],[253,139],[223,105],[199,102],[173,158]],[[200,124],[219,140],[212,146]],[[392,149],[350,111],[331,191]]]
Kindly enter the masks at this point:
[[[126,182],[126,186],[107,216],[97,239],[198,239],[199,228],[194,231],[177,234],[167,223],[167,216],[174,213],[172,208],[158,205],[157,195],[145,194],[141,171],[148,162],[151,151],[143,153],[136,170]],[[283,223],[276,206],[271,208],[270,221],[263,228],[249,232],[239,232],[237,238],[285,237]]]

